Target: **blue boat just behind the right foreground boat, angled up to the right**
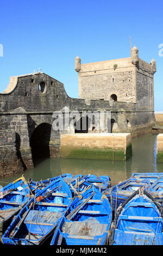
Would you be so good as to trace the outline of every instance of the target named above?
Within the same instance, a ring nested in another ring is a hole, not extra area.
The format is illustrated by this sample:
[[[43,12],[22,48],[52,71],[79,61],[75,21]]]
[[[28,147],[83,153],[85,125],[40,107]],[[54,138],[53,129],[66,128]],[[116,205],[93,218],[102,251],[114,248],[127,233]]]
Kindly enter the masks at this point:
[[[113,212],[115,213],[118,206],[123,204],[136,190],[140,187],[148,187],[148,180],[138,180],[130,178],[126,181],[123,181],[108,190],[103,191],[103,194],[108,198],[109,203]]]

